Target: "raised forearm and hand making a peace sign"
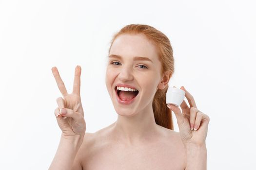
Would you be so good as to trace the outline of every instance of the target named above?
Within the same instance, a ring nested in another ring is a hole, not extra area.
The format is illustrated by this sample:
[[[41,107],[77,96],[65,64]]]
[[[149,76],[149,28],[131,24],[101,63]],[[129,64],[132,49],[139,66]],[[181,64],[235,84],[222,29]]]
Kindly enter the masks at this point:
[[[85,136],[86,123],[80,98],[81,67],[75,69],[73,92],[68,93],[56,67],[52,72],[62,97],[57,98],[55,109],[59,128],[62,131],[59,147],[49,170],[82,170],[79,163],[79,148]]]

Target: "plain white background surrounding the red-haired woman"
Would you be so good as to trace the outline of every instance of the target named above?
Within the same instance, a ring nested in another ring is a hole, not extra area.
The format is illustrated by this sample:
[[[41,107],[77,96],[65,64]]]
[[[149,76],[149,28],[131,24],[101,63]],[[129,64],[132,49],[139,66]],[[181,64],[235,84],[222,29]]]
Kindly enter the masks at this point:
[[[184,85],[210,117],[208,170],[254,169],[255,8],[254,0],[0,0],[0,169],[49,168],[61,134],[53,66],[68,92],[81,66],[86,132],[116,121],[105,61],[112,35],[132,23],[169,37],[169,85]]]

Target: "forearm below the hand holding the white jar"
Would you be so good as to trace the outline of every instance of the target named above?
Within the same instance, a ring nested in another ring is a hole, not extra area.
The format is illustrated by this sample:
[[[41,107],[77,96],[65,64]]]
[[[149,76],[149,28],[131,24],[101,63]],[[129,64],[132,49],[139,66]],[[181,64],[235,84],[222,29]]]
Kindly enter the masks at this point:
[[[206,170],[207,149],[206,145],[186,145],[186,169],[185,170]]]

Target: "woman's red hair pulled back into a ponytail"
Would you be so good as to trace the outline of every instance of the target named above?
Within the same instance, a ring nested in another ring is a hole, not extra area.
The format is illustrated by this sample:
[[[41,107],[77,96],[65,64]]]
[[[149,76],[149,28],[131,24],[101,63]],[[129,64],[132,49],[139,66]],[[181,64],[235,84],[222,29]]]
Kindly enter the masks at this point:
[[[174,73],[174,57],[173,57],[173,49],[168,37],[162,32],[158,31],[154,27],[149,25],[142,24],[130,24],[123,27],[118,33],[113,35],[111,40],[111,45],[108,51],[112,47],[113,42],[120,34],[144,34],[146,37],[153,42],[153,44],[157,47],[158,59],[161,62],[161,76],[165,71],[170,72],[170,77]],[[170,77],[168,80],[170,80]],[[173,128],[173,119],[172,113],[166,104],[165,93],[167,92],[169,85],[161,90],[158,88],[154,99],[153,99],[153,112],[156,123],[165,128],[174,130]]]

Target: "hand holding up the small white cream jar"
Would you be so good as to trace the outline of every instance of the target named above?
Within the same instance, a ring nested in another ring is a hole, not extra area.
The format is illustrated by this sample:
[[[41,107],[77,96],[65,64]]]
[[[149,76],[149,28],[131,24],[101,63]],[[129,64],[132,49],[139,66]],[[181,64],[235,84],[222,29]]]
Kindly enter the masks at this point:
[[[184,145],[205,145],[210,118],[197,109],[193,96],[183,86],[180,89],[185,91],[190,107],[185,100],[180,105],[182,113],[175,105],[169,104],[168,107],[175,113],[182,142]]]

